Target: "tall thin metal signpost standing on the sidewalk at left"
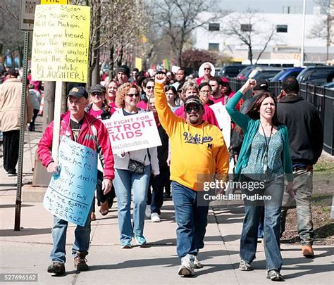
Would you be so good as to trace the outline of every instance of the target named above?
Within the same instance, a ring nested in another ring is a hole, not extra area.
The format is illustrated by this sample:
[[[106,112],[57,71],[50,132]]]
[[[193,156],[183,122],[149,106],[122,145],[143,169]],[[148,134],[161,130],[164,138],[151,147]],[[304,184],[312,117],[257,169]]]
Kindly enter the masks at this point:
[[[27,92],[27,53],[29,44],[29,32],[25,32],[25,42],[23,48],[23,79],[22,79],[22,97],[21,97],[21,118],[20,118],[20,142],[18,145],[18,182],[16,189],[15,203],[15,225],[14,231],[20,231],[21,217],[21,194],[22,194],[22,173],[23,173],[23,148],[25,143],[25,98]]]

